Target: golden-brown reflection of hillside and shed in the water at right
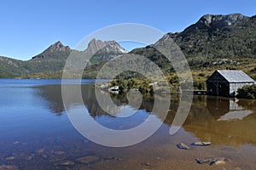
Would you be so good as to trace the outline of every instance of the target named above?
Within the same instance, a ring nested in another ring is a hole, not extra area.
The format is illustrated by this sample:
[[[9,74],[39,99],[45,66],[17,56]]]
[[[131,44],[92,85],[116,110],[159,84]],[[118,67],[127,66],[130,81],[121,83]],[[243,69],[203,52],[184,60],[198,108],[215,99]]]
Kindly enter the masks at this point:
[[[240,146],[256,144],[255,100],[205,97],[194,105],[183,127],[201,140],[213,144]],[[197,99],[195,99],[197,100]],[[247,105],[247,102],[251,105]]]

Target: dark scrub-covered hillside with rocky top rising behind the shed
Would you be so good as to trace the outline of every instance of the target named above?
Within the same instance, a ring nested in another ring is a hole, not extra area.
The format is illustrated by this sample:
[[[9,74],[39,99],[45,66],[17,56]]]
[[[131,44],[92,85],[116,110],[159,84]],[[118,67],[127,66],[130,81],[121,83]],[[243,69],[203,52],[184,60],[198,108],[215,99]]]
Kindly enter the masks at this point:
[[[167,33],[154,45],[169,38],[191,65],[205,65],[216,59],[256,58],[256,15],[206,14],[184,31]]]

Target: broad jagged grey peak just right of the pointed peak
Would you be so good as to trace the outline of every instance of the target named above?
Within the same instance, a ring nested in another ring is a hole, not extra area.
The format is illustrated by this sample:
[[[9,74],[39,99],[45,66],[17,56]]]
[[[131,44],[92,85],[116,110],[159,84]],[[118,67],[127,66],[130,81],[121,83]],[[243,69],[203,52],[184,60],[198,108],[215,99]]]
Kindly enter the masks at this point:
[[[105,52],[105,53],[111,52],[116,54],[127,53],[125,48],[122,48],[118,42],[115,42],[115,41],[102,42],[101,40],[96,40],[95,38],[88,43],[88,47],[84,51],[89,54],[96,54],[99,51]]]

